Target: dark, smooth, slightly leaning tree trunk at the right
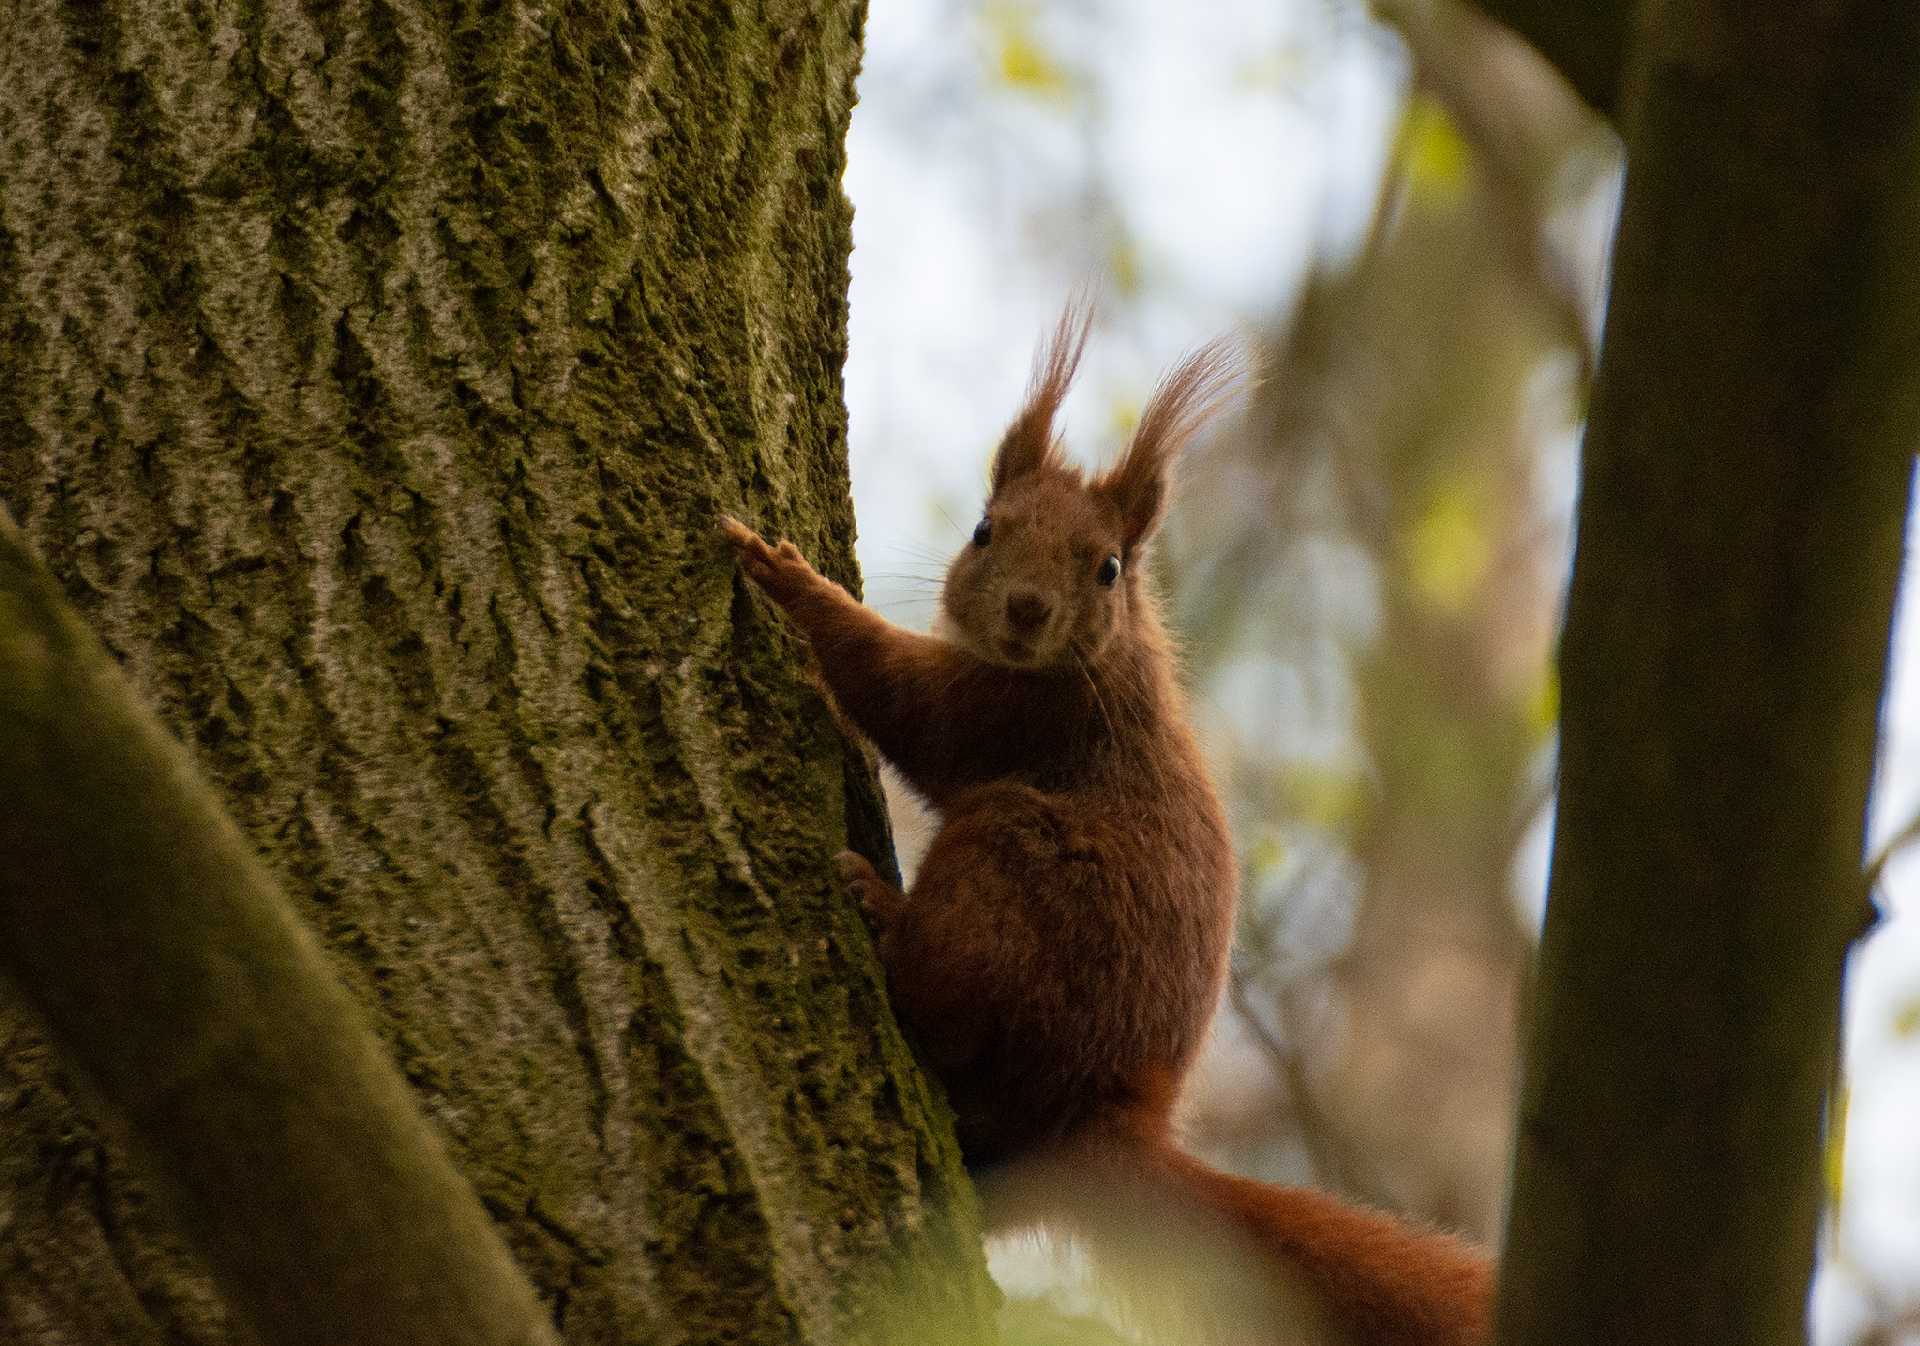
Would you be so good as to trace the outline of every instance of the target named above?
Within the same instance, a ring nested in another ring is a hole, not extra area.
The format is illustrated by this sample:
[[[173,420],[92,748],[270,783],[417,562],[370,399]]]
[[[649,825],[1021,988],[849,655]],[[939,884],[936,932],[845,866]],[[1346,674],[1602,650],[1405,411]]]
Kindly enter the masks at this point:
[[[1764,1346],[1803,1336],[1920,444],[1920,6],[1642,31],[1501,1340]]]

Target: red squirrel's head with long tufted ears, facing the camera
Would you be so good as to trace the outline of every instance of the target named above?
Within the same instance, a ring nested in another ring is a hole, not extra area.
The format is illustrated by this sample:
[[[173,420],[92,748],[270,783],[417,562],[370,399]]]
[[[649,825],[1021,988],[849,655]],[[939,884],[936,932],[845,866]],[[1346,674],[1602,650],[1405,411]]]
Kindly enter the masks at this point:
[[[941,630],[1012,668],[1092,662],[1150,601],[1140,572],[1173,457],[1236,373],[1229,342],[1188,355],[1160,380],[1127,451],[1089,482],[1054,434],[1089,321],[1087,305],[1069,305],[1041,346],[1027,399],[993,457],[985,515],[941,593]]]

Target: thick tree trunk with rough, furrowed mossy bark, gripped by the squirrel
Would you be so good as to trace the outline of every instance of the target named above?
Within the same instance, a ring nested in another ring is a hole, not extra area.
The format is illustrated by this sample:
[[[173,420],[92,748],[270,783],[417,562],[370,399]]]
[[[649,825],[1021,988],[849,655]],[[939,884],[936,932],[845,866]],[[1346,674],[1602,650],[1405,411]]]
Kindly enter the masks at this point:
[[[712,534],[854,580],[860,15],[8,6],[0,505],[570,1342],[991,1310],[829,879],[872,774]],[[0,1137],[0,1338],[234,1336],[10,993]]]

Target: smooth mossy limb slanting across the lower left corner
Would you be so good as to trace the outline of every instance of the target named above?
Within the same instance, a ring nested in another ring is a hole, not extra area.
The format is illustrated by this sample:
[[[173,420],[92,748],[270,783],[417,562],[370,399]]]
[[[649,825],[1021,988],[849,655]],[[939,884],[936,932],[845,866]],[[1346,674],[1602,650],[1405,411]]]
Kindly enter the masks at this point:
[[[0,799],[0,968],[263,1342],[557,1346],[319,941],[4,511]]]

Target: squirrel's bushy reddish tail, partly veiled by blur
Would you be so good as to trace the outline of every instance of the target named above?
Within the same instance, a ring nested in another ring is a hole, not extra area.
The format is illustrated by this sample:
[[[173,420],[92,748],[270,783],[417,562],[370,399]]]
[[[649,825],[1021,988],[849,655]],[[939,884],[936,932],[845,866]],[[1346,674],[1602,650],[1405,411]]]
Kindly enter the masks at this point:
[[[1473,1244],[1308,1187],[1208,1167],[1162,1135],[1083,1133],[985,1175],[995,1229],[1050,1227],[1175,1340],[1484,1346],[1494,1267]]]

